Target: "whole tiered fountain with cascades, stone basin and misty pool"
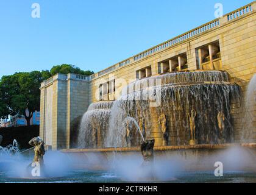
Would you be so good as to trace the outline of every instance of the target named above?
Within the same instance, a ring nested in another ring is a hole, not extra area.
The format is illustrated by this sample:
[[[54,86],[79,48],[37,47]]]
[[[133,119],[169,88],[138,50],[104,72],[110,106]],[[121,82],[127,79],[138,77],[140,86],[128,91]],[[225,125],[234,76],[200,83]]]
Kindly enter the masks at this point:
[[[54,166],[68,162],[72,173],[55,180],[256,182],[256,144],[234,143],[234,102],[240,104],[240,87],[224,71],[167,73],[129,83],[116,101],[88,107],[77,148],[62,150],[65,160]],[[213,174],[216,161],[224,164],[223,179]]]

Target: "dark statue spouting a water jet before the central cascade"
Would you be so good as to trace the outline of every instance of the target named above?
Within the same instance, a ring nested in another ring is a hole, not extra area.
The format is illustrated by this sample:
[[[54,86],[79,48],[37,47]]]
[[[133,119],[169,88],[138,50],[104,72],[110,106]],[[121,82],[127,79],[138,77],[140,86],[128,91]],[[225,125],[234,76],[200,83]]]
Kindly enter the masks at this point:
[[[144,165],[152,165],[154,162],[154,145],[155,145],[155,139],[152,140],[144,140],[143,143],[140,146],[141,154],[143,156],[143,163]]]

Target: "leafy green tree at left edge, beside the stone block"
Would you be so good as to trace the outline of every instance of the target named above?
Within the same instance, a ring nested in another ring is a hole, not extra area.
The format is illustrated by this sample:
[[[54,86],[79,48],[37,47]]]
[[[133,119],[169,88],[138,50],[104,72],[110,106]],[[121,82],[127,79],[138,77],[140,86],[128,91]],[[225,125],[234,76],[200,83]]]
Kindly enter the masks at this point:
[[[22,114],[30,126],[33,112],[40,110],[40,83],[48,76],[40,71],[3,76],[0,80],[0,116]]]

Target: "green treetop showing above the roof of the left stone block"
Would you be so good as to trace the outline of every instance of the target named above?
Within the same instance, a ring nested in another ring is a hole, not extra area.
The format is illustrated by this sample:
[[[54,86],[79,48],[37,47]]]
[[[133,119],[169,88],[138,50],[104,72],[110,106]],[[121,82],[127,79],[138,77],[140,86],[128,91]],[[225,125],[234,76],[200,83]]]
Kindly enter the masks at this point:
[[[75,74],[90,76],[91,74],[93,74],[93,71],[83,71],[77,66],[63,64],[63,65],[53,66],[52,69],[50,70],[50,73],[51,73],[51,76],[54,76],[54,74],[57,74],[57,73],[62,73],[62,74],[75,73]]]

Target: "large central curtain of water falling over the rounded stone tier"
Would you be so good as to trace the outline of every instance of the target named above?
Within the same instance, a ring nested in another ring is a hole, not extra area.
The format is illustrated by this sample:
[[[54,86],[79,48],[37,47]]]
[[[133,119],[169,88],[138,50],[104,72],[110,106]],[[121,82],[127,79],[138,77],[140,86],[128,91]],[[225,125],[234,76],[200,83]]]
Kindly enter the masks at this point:
[[[160,85],[157,85],[157,80]],[[195,110],[196,140],[199,144],[233,141],[230,105],[239,99],[240,88],[228,82],[223,71],[191,71],[168,73],[137,80],[123,89],[111,110],[107,147],[123,147],[124,119],[134,118],[140,129],[146,129],[146,138],[162,140],[158,118],[166,116],[168,142],[171,145],[188,144],[190,140],[190,112]],[[152,102],[160,104],[151,107]],[[222,118],[222,139],[219,115]],[[138,142],[137,146],[140,145]]]

